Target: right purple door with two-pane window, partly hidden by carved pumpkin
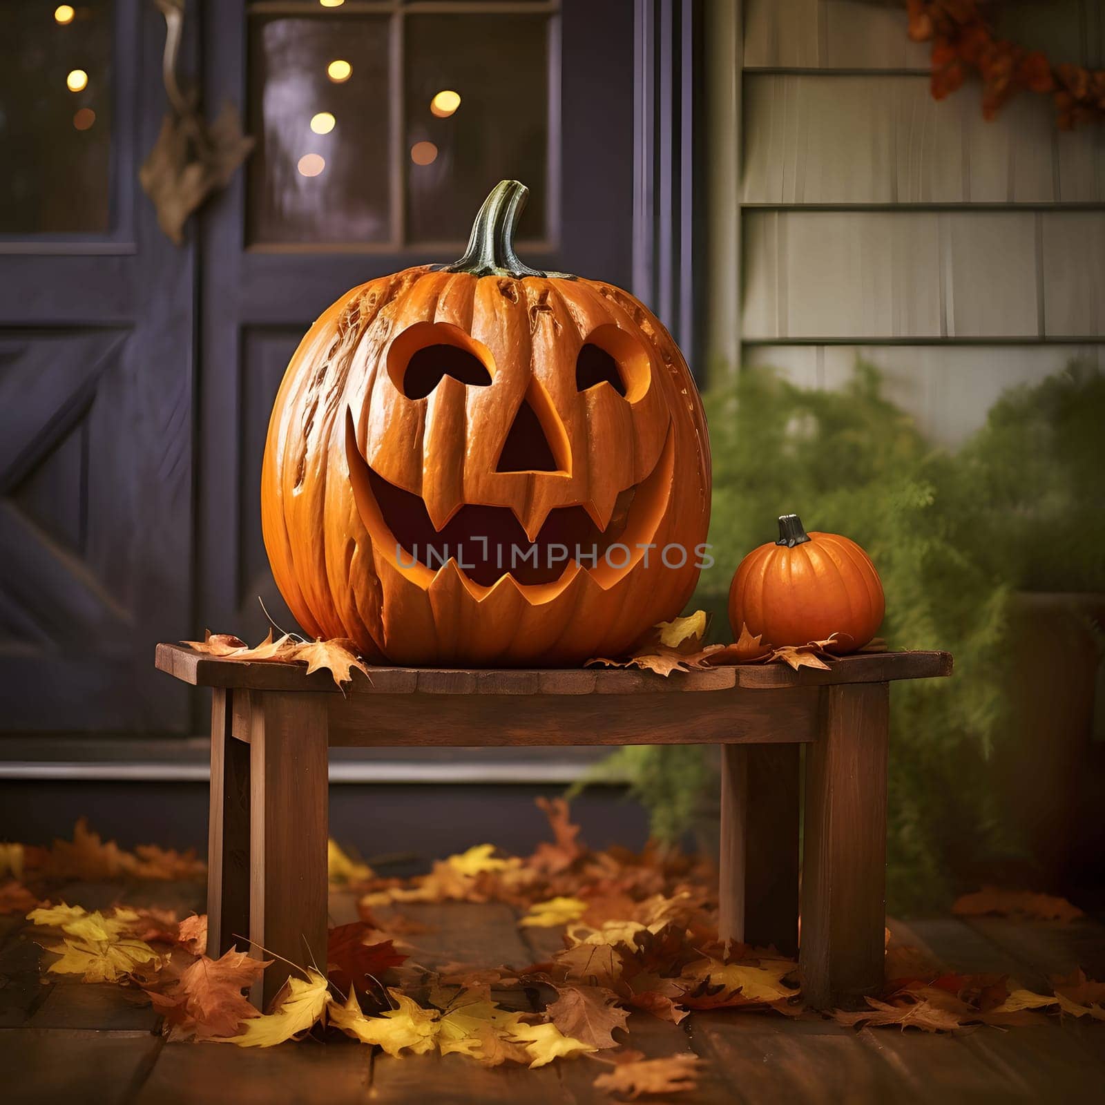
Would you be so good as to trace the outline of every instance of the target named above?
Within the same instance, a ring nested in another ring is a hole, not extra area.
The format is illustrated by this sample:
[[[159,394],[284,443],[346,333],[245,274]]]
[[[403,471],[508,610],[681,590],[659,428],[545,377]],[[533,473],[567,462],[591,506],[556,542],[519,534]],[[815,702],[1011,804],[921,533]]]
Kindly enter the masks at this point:
[[[203,214],[199,609],[252,640],[269,625],[259,597],[294,628],[261,540],[261,454],[318,314],[373,276],[455,260],[483,198],[515,175],[534,192],[523,260],[630,285],[634,4],[209,0],[204,12],[206,98],[244,102],[260,146],[248,183]],[[332,62],[348,75],[332,80]],[[320,113],[333,119],[316,129]],[[305,157],[323,167],[304,173]]]

